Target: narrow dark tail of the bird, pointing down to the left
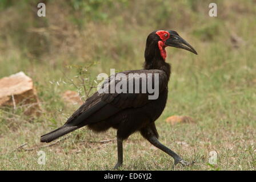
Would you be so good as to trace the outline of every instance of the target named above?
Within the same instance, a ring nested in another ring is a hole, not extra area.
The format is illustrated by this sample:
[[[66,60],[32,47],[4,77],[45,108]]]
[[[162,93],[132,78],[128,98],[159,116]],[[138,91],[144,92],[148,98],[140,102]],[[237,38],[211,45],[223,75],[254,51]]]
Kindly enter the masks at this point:
[[[48,143],[77,129],[79,129],[78,126],[62,126],[56,130],[51,131],[50,133],[42,135],[40,141]]]

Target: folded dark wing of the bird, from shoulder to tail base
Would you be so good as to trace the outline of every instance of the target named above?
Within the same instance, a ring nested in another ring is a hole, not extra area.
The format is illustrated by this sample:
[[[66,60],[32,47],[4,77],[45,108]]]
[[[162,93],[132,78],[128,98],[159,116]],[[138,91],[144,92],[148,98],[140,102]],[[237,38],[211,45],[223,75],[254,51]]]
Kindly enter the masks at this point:
[[[142,81],[144,81],[144,83],[146,81],[146,88],[145,85],[143,87],[144,90],[141,86]],[[115,79],[113,77],[107,78],[102,84],[101,92],[95,92],[93,96],[89,97],[85,103],[71,115],[65,125],[85,125],[87,123],[103,121],[123,109],[141,107],[154,100],[155,93],[152,93],[153,88],[159,95],[162,90],[166,88],[167,82],[168,78],[166,73],[158,69],[116,73]],[[135,88],[134,85],[136,85],[136,83],[139,83],[139,86]],[[133,86],[129,84],[133,84]],[[113,86],[114,92],[111,92],[111,86]],[[117,87],[121,88],[119,91],[121,93],[117,92],[115,89]],[[156,89],[156,87],[158,87],[158,89]],[[106,90],[108,90],[109,93],[106,93]],[[135,90],[137,90],[138,93],[135,93]],[[155,97],[157,97],[157,94]]]

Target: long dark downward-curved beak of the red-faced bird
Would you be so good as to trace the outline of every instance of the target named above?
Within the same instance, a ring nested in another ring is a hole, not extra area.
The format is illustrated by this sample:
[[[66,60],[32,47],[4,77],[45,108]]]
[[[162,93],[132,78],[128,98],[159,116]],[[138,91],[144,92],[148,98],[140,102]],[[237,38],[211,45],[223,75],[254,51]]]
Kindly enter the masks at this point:
[[[177,34],[175,31],[168,31],[170,33],[170,38],[166,40],[165,45],[171,46],[171,47],[177,47],[181,49],[186,49],[187,51],[193,52],[197,55],[197,51],[190,46],[189,43],[186,42],[186,40],[182,39],[181,36]]]

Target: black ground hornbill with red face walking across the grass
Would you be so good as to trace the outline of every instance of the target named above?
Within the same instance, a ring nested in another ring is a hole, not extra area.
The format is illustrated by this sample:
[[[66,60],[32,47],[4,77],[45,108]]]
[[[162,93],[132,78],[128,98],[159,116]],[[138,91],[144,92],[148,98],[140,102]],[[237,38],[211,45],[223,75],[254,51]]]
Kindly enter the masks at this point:
[[[65,125],[42,135],[41,142],[51,142],[86,125],[96,132],[106,131],[113,127],[117,129],[118,150],[118,161],[114,168],[120,167],[123,163],[123,140],[127,139],[135,131],[139,131],[151,144],[172,156],[174,164],[190,164],[158,141],[158,133],[154,123],[162,114],[163,109],[165,109],[167,100],[168,82],[171,73],[170,64],[165,61],[165,48],[167,46],[186,49],[197,54],[195,49],[175,31],[160,30],[151,32],[146,41],[144,69],[122,72],[122,79],[127,78],[128,82],[139,81],[139,92],[128,92],[129,84],[127,84],[122,88],[126,89],[127,92],[94,93],[71,115]],[[130,73],[138,74],[132,77],[131,80]],[[152,76],[150,81],[149,75]],[[153,77],[157,77],[154,75],[158,75],[158,80],[153,79]],[[109,77],[103,85],[107,85],[109,88],[112,84],[117,84],[122,79],[111,81],[113,79]],[[148,89],[146,89],[146,92],[142,92],[142,82],[140,82],[142,79],[146,79],[153,86],[158,86],[159,94],[156,99],[149,99],[152,94]],[[137,88],[133,86],[130,89],[134,91]]]

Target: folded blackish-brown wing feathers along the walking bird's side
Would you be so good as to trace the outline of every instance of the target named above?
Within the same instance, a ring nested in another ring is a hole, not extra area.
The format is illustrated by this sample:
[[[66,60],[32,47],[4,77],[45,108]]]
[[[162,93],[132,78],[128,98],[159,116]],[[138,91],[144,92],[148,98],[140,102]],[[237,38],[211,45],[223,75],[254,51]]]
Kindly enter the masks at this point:
[[[153,101],[149,100],[149,90],[146,89],[146,93],[141,93],[142,88],[139,88],[139,93],[134,93],[135,88],[133,86],[133,93],[129,92],[128,82],[133,82],[133,85],[136,81],[142,81],[143,79],[147,80],[147,76],[151,73],[152,78],[157,73],[159,76],[159,94],[167,86],[167,75],[165,72],[158,69],[150,70],[134,70],[134,71],[125,71],[121,72],[126,76],[127,79],[127,92],[126,93],[99,93],[95,92],[93,96],[89,97],[84,104],[82,104],[77,111],[69,119],[65,125],[87,125],[92,122],[99,122],[104,119],[111,117],[111,115],[118,113],[119,111],[130,108],[130,107],[141,107],[145,104]],[[129,74],[135,74],[134,77],[130,78]],[[143,74],[141,74],[143,73]],[[118,74],[118,73],[117,73]],[[116,74],[116,75],[117,75]],[[111,86],[111,84],[117,84],[120,80],[111,81],[111,77],[107,78],[106,81],[102,84]],[[154,79],[152,79],[152,85],[154,87]]]

